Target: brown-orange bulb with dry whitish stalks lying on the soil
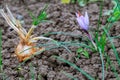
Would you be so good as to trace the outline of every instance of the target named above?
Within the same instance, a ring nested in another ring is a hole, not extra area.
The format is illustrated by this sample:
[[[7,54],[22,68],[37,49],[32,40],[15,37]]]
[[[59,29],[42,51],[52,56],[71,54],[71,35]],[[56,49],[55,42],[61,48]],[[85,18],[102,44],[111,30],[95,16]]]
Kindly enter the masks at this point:
[[[34,31],[34,28],[36,28],[36,26],[32,25],[32,27],[27,32],[20,24],[20,21],[14,18],[8,6],[6,6],[6,10],[7,12],[5,13],[3,9],[0,9],[1,15],[10,25],[10,27],[12,27],[18,33],[20,37],[20,42],[15,49],[15,54],[17,55],[19,61],[22,62],[30,58],[36,52],[45,50],[44,47],[40,47],[40,48],[35,47],[36,42],[39,39],[47,39],[47,40],[52,40],[52,39],[43,36],[33,37],[31,34]]]

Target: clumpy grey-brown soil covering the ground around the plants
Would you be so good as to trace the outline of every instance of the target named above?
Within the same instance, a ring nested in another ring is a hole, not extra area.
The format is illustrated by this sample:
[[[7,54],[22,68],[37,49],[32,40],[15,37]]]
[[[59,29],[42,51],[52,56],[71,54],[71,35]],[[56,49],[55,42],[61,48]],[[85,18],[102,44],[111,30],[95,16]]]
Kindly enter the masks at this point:
[[[75,12],[78,10],[81,13],[84,13],[85,11],[89,13],[90,26],[92,26],[92,29],[96,28],[99,19],[100,2],[90,3],[87,4],[85,7],[80,7],[78,4],[61,4],[60,0],[29,0],[29,2],[25,0],[24,2],[22,1],[3,0],[0,3],[2,7],[7,4],[15,16],[22,15],[24,20],[23,26],[27,30],[31,27],[32,19],[28,15],[26,9],[29,8],[34,14],[38,15],[44,5],[46,3],[49,4],[47,9],[48,20],[51,20],[53,22],[40,24],[37,29],[35,29],[34,33],[36,35],[42,35],[48,32],[62,31],[85,36],[76,21]],[[105,0],[103,11],[111,9],[112,6],[113,5],[109,2],[109,0]],[[106,19],[107,17],[102,16],[101,24],[103,26],[106,23]],[[99,54],[92,52],[90,53],[89,59],[81,56],[80,59],[75,60],[75,57],[77,56],[76,50],[78,47],[69,47],[72,51],[72,54],[67,52],[64,48],[57,48],[45,51],[40,55],[34,56],[31,60],[19,66],[20,62],[18,61],[17,57],[14,56],[15,47],[19,42],[18,35],[12,28],[10,28],[10,26],[5,22],[2,16],[0,16],[0,28],[2,28],[2,63],[5,80],[31,80],[31,72],[33,72],[35,80],[71,80],[61,71],[69,73],[78,80],[88,80],[76,69],[72,68],[66,63],[54,59],[52,57],[53,55],[58,55],[76,64],[78,67],[82,68],[84,71],[89,73],[97,80],[102,79],[102,67]],[[119,36],[119,33],[120,23],[117,22],[111,28],[110,34],[111,36]],[[79,40],[79,38],[76,37],[58,34],[49,35],[48,37],[51,37],[58,41]],[[118,53],[120,53],[119,41],[120,39],[114,39],[115,47],[117,48]],[[120,74],[119,66],[109,43],[107,44],[106,52],[116,66],[118,74]],[[3,75],[0,75],[0,80],[3,79],[2,76]],[[114,73],[109,67],[108,70],[105,71],[105,80],[116,80]]]

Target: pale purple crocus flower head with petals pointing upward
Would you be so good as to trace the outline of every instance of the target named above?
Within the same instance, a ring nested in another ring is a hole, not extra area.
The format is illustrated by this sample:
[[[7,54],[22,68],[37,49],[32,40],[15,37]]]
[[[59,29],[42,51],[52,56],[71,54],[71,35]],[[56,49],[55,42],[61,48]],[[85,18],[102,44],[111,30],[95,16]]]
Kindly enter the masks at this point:
[[[87,12],[85,12],[85,16],[81,15],[80,12],[76,13],[77,16],[77,21],[80,25],[80,27],[84,30],[84,31],[88,31],[89,29],[89,17]]]

